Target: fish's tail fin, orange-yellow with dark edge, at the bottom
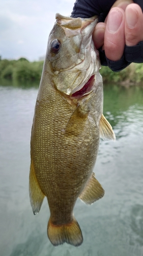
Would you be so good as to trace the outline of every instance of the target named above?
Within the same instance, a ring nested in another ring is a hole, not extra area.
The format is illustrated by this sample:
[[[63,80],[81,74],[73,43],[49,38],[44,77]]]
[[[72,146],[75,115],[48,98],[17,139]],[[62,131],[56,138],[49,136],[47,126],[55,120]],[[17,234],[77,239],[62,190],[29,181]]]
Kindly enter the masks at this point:
[[[79,246],[83,241],[80,227],[75,218],[71,223],[64,225],[54,225],[49,219],[47,233],[50,242],[54,246],[63,243]]]

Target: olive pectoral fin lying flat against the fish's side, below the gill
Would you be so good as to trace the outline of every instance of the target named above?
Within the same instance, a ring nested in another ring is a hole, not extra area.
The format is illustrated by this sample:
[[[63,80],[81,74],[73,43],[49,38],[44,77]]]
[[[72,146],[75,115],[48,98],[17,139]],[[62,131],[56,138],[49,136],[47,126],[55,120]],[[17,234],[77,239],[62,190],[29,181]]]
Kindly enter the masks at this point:
[[[89,111],[83,112],[81,110],[81,106],[77,106],[73,114],[71,115],[66,129],[65,129],[65,134],[66,135],[78,135],[81,133],[83,127],[84,127],[84,122],[88,118],[88,113]]]

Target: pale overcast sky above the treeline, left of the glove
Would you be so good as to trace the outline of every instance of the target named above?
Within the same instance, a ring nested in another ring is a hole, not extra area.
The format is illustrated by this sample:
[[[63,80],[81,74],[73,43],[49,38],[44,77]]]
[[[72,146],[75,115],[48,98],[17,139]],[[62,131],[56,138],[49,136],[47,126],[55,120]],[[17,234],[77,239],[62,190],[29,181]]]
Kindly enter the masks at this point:
[[[74,0],[1,0],[0,55],[39,60],[46,54],[55,13],[70,16]]]

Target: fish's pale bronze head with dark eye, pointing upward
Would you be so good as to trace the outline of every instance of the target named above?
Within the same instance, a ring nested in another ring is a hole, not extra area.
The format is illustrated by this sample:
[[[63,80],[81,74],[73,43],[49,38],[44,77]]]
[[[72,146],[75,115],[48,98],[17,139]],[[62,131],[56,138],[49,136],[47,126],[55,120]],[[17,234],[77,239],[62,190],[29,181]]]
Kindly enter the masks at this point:
[[[56,14],[56,22],[49,35],[46,61],[55,88],[64,94],[72,96],[85,84],[93,83],[99,71],[98,51],[92,40],[97,22],[97,16],[71,18]]]

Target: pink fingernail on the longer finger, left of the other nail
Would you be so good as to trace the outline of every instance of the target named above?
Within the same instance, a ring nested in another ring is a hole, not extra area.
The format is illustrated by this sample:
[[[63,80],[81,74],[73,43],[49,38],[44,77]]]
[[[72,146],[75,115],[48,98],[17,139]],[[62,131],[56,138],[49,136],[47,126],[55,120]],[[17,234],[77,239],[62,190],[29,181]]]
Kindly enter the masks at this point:
[[[122,23],[122,19],[123,19],[122,12],[120,12],[119,10],[117,11],[111,10],[110,13],[108,14],[108,19],[107,19],[108,31],[112,33],[116,32]]]

